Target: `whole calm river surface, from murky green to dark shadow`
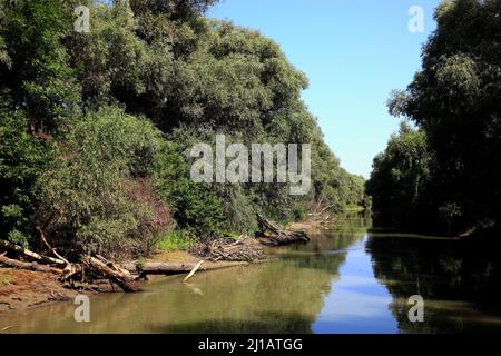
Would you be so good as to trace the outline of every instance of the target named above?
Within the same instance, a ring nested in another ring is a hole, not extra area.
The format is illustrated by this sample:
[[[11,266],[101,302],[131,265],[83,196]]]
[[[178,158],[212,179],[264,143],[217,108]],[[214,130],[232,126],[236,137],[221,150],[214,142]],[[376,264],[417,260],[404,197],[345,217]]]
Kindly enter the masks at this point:
[[[470,241],[370,229],[346,216],[277,260],[148,281],[90,299],[90,322],[55,304],[0,316],[9,333],[501,332],[499,254]],[[487,250],[487,251],[485,251]],[[489,258],[491,256],[491,258]],[[424,322],[409,298],[424,299]]]

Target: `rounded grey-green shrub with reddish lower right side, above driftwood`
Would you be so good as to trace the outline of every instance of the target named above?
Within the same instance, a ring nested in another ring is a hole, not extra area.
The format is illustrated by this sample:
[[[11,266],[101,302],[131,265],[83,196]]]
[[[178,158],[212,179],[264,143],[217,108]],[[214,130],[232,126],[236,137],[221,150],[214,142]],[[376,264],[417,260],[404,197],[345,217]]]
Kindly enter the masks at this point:
[[[121,257],[145,253],[170,224],[148,178],[161,135],[117,108],[75,120],[58,142],[60,156],[40,178],[39,221],[58,245]]]

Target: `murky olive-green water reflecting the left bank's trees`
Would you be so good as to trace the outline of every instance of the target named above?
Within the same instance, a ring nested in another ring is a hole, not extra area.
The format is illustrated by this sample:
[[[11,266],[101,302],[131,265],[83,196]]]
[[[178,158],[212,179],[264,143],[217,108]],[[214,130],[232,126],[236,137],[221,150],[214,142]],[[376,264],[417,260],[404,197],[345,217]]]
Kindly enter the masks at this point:
[[[73,322],[72,306],[57,305],[0,325],[16,325],[17,333],[312,333],[348,247],[363,239],[362,227],[347,226],[338,238],[317,231],[313,244],[275,250],[273,263],[197,274],[189,284],[160,278],[143,294],[98,296],[88,324]]]

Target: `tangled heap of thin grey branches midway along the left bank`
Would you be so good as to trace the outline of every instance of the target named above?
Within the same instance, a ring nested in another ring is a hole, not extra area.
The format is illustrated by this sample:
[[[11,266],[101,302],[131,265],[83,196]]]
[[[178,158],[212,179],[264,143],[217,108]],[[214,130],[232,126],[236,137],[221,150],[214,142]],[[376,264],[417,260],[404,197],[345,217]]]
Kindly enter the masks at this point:
[[[189,253],[212,261],[257,261],[263,259],[264,251],[259,243],[252,237],[212,238],[199,241],[189,248]]]

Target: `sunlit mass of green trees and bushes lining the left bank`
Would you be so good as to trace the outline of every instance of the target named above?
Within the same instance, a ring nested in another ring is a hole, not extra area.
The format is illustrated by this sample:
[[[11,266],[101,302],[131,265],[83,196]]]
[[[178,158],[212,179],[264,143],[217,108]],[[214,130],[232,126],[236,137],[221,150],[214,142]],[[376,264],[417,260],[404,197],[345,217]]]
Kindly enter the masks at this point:
[[[39,227],[56,247],[145,253],[174,226],[244,233],[256,211],[369,205],[301,100],[304,73],[258,32],[205,18],[213,2],[0,0],[0,238],[36,246]],[[75,31],[79,6],[89,31]],[[195,184],[187,149],[217,134],[311,144],[311,192]]]

